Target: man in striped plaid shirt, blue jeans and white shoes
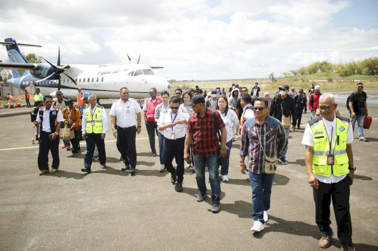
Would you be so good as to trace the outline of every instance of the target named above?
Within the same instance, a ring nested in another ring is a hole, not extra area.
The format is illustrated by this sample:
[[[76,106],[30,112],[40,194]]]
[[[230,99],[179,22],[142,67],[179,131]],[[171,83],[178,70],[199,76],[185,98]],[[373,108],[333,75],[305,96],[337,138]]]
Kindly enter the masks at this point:
[[[252,218],[254,225],[251,231],[260,232],[268,221],[270,196],[274,174],[264,173],[265,154],[277,156],[287,146],[284,127],[276,118],[268,116],[268,100],[258,97],[255,101],[256,117],[245,121],[240,144],[240,172],[245,174],[245,156],[248,155],[248,174],[252,186]],[[260,135],[260,140],[259,140]],[[261,144],[260,144],[261,141]],[[264,151],[262,150],[264,147]]]

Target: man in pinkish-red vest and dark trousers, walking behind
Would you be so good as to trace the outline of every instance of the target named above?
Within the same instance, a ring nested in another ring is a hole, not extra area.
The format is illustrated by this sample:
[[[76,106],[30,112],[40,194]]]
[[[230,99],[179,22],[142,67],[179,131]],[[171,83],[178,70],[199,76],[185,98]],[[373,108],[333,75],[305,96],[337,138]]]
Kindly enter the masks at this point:
[[[152,156],[156,156],[155,149],[155,134],[157,135],[157,124],[155,121],[155,109],[161,104],[161,99],[156,96],[156,88],[150,89],[150,98],[147,98],[143,105],[144,120],[146,121],[146,130],[148,133],[148,139],[150,140],[150,147]]]

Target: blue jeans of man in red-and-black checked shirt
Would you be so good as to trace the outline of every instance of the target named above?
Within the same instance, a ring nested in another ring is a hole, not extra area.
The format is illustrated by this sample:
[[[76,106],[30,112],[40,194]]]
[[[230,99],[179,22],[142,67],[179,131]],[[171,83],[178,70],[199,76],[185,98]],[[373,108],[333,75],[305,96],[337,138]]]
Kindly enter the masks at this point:
[[[211,187],[211,200],[213,203],[220,202],[220,182],[219,182],[219,165],[218,165],[218,154],[214,154],[209,157],[200,156],[197,154],[193,154],[194,162],[195,162],[195,170],[196,170],[196,180],[197,186],[200,190],[201,194],[206,193],[206,183],[205,183],[205,163],[207,164],[207,168],[209,170],[209,181]]]

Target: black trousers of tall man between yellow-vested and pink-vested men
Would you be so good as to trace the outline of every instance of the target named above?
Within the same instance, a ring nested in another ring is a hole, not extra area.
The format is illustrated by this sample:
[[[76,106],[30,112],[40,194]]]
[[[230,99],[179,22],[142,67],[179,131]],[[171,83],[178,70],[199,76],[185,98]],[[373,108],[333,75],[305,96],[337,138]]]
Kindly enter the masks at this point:
[[[135,168],[137,166],[137,147],[135,145],[137,127],[117,127],[117,134],[117,141],[124,164]]]

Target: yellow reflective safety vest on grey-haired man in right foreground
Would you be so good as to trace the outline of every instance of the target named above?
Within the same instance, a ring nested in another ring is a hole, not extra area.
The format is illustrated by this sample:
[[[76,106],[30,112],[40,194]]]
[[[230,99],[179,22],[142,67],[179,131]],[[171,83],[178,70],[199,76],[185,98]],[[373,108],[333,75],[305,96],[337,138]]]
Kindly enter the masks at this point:
[[[334,165],[328,164],[327,155],[330,154],[330,144],[327,138],[327,131],[324,128],[323,120],[311,125],[313,152],[312,152],[312,171],[316,175],[336,177],[349,173],[349,159],[346,153],[346,141],[349,123],[336,118],[336,135],[332,138],[334,146]],[[332,151],[331,151],[332,153]]]

